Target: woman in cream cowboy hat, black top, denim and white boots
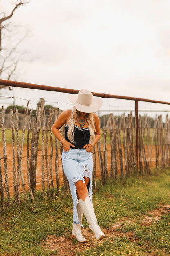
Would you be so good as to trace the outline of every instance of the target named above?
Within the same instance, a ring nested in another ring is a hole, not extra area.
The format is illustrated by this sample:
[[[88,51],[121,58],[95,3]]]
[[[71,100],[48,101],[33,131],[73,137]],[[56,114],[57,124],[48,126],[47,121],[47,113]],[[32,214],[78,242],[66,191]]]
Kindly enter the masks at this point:
[[[79,242],[87,242],[81,234],[83,213],[96,239],[105,235],[97,224],[92,206],[92,148],[100,139],[98,115],[102,99],[93,97],[89,90],[81,89],[77,95],[68,96],[74,107],[64,110],[52,126],[52,132],[63,144],[61,155],[64,173],[69,181],[73,199],[72,236]],[[60,128],[65,124],[65,138]]]

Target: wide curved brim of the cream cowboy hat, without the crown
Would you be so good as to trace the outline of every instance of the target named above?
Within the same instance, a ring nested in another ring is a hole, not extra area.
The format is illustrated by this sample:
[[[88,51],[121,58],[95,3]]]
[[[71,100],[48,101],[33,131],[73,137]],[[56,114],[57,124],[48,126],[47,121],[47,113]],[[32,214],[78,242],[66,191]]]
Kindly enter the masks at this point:
[[[94,96],[93,96],[93,104],[92,105],[81,105],[81,104],[77,103],[77,101],[76,101],[77,95],[74,95],[74,94],[69,94],[68,98],[78,111],[81,111],[84,113],[94,113],[97,110],[99,110],[103,104],[103,101],[101,98],[94,97]]]

